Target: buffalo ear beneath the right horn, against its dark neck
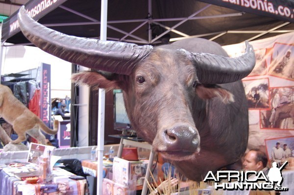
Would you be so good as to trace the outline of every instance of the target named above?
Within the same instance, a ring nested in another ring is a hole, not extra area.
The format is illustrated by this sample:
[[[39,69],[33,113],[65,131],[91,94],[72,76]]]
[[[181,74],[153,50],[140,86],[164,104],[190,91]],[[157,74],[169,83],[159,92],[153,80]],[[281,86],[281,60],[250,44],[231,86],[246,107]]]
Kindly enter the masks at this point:
[[[234,95],[227,89],[218,85],[198,84],[196,86],[196,93],[204,100],[219,97],[224,104],[234,102]]]

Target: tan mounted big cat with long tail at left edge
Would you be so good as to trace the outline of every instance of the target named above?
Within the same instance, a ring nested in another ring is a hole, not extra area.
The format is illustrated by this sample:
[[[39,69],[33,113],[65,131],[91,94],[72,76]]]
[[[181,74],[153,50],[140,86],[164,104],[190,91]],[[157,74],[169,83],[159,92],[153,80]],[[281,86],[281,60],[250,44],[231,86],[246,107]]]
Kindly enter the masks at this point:
[[[25,141],[25,133],[27,133],[41,144],[46,145],[45,135],[40,129],[52,135],[58,131],[57,120],[54,121],[54,129],[51,130],[36,114],[14,97],[9,87],[3,85],[0,85],[0,117],[3,117],[7,123],[11,124],[18,134],[18,138],[11,140],[10,144],[19,144]]]

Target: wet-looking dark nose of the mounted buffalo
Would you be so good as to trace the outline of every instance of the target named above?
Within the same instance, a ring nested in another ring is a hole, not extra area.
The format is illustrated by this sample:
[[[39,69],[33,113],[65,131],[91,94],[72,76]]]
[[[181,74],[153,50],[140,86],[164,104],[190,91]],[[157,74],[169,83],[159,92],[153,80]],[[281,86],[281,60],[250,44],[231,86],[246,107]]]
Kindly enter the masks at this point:
[[[189,126],[177,126],[163,132],[168,151],[195,152],[199,146],[198,131]]]

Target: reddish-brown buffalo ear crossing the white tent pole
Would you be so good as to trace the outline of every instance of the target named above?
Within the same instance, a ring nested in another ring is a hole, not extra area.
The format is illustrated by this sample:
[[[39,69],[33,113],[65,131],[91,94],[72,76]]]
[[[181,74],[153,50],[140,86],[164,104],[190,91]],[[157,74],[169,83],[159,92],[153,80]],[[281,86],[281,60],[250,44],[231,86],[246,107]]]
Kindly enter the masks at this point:
[[[76,85],[87,85],[94,88],[118,89],[119,82],[111,80],[110,76],[104,76],[102,72],[83,71],[72,75],[72,82]]]

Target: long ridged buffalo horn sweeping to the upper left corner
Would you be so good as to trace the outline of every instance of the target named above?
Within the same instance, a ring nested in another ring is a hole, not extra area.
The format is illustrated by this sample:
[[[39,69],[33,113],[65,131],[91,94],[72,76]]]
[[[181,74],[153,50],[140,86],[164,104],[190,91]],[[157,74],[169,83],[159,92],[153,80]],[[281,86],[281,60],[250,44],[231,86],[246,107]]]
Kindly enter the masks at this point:
[[[31,19],[22,6],[18,22],[25,37],[37,47],[65,61],[89,68],[129,75],[148,56],[152,46],[100,41],[62,34]]]

